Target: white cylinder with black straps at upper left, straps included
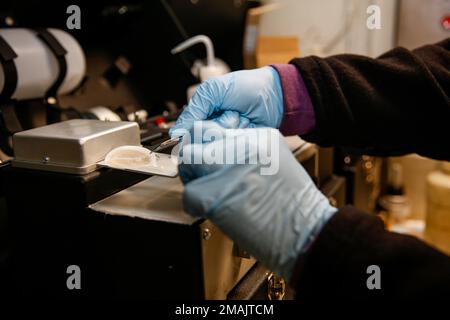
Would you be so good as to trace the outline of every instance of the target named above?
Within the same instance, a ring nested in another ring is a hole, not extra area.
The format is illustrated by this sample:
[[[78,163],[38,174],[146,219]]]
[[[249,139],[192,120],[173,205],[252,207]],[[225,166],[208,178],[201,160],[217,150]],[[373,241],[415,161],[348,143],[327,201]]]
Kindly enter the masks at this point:
[[[52,94],[65,94],[76,88],[83,79],[85,56],[81,46],[69,33],[52,28],[11,28],[0,29],[0,37],[15,53],[10,60],[16,69],[12,99],[44,98],[50,89],[54,90]],[[8,89],[5,84],[13,81],[10,79],[12,73],[0,64],[0,92]],[[58,87],[52,88],[55,84]]]

